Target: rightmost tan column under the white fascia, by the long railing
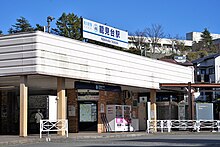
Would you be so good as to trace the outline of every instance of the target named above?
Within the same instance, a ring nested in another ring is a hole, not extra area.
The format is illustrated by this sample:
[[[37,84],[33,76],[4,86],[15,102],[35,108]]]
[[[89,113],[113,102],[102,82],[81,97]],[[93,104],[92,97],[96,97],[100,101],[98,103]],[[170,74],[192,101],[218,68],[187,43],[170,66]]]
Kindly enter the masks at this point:
[[[156,90],[151,89],[150,90],[150,101],[151,101],[151,106],[150,106],[150,119],[154,121],[154,131],[157,131],[157,106],[156,106]]]

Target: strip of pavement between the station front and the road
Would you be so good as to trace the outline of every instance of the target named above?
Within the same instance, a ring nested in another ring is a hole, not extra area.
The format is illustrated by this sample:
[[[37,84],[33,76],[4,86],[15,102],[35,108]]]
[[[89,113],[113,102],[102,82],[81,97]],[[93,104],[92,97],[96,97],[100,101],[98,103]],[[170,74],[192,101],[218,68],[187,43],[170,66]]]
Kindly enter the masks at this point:
[[[144,137],[153,135],[207,135],[207,134],[220,135],[219,132],[189,132],[189,131],[176,131],[176,132],[157,132],[157,133],[146,133],[143,132],[113,132],[113,133],[96,133],[96,132],[80,132],[80,133],[69,133],[69,137],[58,136],[57,134],[43,134],[40,138],[39,134],[29,134],[27,137],[19,137],[19,135],[0,135],[0,147],[7,145],[18,145],[18,144],[29,144],[29,143],[39,143],[47,141],[56,140],[82,140],[82,139],[106,139],[106,138],[132,138],[132,137]]]

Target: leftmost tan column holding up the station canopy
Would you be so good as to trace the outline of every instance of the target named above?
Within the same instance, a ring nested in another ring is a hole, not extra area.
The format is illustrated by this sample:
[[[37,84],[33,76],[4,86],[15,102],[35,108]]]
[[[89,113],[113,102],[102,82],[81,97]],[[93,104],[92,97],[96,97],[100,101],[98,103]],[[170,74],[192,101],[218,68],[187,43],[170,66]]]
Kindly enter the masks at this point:
[[[19,136],[27,136],[27,76],[20,77],[20,131]]]

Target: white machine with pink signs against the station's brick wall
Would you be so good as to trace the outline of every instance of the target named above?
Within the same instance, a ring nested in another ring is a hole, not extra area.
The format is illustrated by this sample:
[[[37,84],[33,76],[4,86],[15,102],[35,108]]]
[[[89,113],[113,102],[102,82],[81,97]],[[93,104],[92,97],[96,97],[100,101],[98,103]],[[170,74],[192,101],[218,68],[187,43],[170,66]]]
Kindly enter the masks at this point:
[[[106,117],[112,131],[133,131],[130,105],[107,105]]]

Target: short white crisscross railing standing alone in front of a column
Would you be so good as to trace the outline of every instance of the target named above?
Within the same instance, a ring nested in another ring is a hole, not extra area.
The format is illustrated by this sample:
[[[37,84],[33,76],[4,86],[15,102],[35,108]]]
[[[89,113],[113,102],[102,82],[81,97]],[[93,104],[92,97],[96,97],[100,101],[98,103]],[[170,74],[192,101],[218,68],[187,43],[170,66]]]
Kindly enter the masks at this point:
[[[66,137],[68,137],[68,120],[58,119],[58,120],[40,120],[40,138],[42,138],[43,132],[58,132],[65,131]]]

